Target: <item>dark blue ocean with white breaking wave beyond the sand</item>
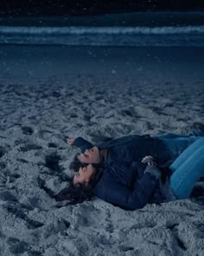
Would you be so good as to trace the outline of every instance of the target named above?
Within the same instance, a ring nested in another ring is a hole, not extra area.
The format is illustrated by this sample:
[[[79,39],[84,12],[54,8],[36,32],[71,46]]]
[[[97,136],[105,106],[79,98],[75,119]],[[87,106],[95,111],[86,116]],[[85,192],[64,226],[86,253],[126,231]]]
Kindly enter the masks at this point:
[[[1,20],[0,44],[204,47],[204,15],[171,14],[167,21],[162,15],[136,17]]]

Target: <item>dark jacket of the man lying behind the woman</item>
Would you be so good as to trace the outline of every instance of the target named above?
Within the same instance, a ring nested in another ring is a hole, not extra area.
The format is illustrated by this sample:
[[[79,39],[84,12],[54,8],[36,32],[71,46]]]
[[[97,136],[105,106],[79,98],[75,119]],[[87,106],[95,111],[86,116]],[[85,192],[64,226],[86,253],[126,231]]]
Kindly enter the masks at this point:
[[[74,141],[74,146],[81,149],[92,148],[89,141],[78,137]],[[99,149],[108,149],[107,163],[111,161],[123,160],[130,163],[141,161],[145,155],[152,155],[159,165],[163,165],[169,160],[170,155],[166,145],[161,139],[155,139],[150,135],[128,135],[111,141],[103,141],[96,145]]]

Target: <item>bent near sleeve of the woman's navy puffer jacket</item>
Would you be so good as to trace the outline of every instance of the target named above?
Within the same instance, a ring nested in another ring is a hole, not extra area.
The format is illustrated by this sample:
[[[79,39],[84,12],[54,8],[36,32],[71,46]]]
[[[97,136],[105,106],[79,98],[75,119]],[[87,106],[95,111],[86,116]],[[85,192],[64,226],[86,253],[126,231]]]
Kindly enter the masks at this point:
[[[107,177],[98,189],[99,198],[126,210],[144,207],[158,185],[161,173],[155,166],[146,167],[141,180],[137,180],[132,189]]]

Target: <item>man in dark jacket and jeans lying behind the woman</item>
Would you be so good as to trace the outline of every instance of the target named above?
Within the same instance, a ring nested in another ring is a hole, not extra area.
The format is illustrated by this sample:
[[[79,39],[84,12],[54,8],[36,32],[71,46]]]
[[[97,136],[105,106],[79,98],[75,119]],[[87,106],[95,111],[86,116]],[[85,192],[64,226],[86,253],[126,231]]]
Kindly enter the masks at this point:
[[[97,145],[92,145],[81,137],[75,140],[67,139],[70,146],[78,147],[82,152],[74,157],[71,168],[79,166],[80,163],[141,161],[144,155],[149,154],[156,159],[159,166],[169,166],[185,148],[204,136],[204,125],[194,123],[193,127],[196,129],[189,135],[128,135]]]

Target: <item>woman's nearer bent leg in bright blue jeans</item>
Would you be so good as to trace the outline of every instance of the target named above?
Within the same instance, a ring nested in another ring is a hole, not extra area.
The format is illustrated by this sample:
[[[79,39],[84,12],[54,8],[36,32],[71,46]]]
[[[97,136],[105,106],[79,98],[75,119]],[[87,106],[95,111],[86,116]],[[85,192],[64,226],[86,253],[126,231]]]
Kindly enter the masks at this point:
[[[204,146],[201,146],[170,177],[170,187],[177,199],[188,198],[195,182],[203,175]]]

